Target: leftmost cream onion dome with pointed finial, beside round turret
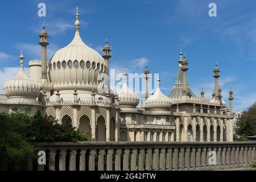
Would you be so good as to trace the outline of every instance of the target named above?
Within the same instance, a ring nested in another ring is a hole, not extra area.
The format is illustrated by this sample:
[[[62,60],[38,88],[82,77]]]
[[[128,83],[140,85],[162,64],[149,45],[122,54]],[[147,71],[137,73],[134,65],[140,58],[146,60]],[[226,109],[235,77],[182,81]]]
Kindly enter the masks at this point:
[[[25,57],[22,55],[19,56],[20,59],[20,68],[18,74],[7,80],[3,84],[3,91],[5,92],[8,98],[28,98],[36,99],[40,94],[40,83],[29,78],[24,72],[23,68],[23,59]]]

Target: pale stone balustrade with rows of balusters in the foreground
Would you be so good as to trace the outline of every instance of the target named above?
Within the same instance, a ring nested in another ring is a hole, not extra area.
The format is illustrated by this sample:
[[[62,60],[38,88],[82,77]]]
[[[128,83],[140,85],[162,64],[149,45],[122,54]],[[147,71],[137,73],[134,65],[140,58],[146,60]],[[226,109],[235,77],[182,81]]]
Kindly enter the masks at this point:
[[[255,147],[256,142],[40,143],[40,150],[46,151],[47,164],[32,165],[30,161],[28,169],[181,171],[250,168],[249,162],[255,159]]]

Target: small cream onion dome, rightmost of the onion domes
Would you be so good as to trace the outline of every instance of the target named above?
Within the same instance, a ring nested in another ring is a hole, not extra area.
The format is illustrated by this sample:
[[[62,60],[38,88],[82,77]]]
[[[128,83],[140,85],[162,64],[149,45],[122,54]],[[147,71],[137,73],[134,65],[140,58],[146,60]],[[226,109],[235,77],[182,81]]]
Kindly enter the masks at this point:
[[[158,78],[156,81],[158,83],[158,87],[156,88],[155,93],[145,101],[145,108],[146,109],[170,109],[172,105],[172,100],[171,98],[164,96],[164,94],[161,92],[159,87],[160,79]]]

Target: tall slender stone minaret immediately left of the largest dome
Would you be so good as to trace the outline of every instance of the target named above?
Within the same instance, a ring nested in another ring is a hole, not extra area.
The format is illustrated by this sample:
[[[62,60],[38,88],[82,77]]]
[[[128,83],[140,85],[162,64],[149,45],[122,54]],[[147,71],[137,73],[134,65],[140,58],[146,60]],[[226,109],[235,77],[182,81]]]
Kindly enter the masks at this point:
[[[44,24],[43,24],[43,30],[40,32],[39,38],[40,38],[39,44],[41,45],[41,61],[42,61],[41,81],[42,83],[44,83],[47,81],[47,48],[46,47],[49,45],[48,43],[49,36],[47,35],[46,26],[44,26]]]

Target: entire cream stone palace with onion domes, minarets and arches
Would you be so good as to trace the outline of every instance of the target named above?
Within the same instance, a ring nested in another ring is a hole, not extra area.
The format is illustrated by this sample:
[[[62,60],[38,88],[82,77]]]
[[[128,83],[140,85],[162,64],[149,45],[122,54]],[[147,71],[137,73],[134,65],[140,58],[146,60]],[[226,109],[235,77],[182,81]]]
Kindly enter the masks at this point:
[[[71,123],[82,133],[91,133],[98,141],[233,141],[233,91],[229,92],[229,107],[222,100],[218,85],[220,70],[214,68],[214,93],[211,100],[204,91],[197,97],[187,82],[188,60],[180,51],[178,73],[170,95],[160,90],[160,79],[154,94],[148,97],[148,68],[145,102],[127,86],[123,73],[122,88],[111,92],[109,82],[110,46],[108,41],[101,56],[86,46],[80,37],[79,11],[76,12],[75,36],[68,46],[61,48],[47,61],[48,34],[40,32],[41,60],[29,62],[30,77],[23,68],[21,53],[19,73],[7,81],[0,96],[0,111],[26,111],[34,115]],[[104,92],[100,92],[103,90]]]

